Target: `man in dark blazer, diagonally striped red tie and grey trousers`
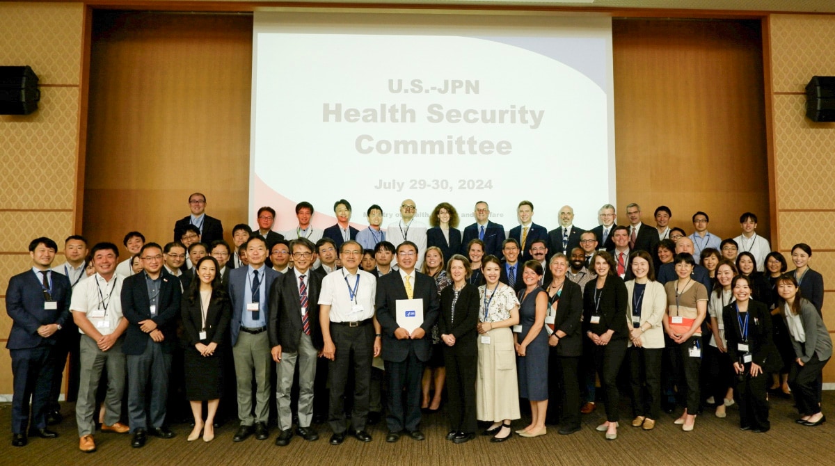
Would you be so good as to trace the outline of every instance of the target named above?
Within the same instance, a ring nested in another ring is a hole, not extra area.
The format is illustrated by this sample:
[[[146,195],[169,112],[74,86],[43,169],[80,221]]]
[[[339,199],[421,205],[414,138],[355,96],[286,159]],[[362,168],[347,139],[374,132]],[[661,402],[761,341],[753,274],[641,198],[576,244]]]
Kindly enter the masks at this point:
[[[272,360],[278,372],[278,427],[276,445],[286,446],[293,436],[291,392],[296,366],[299,368],[299,401],[296,433],[308,441],[319,438],[311,427],[313,418],[313,381],[316,379],[316,357],[321,351],[319,327],[319,290],[321,279],[311,273],[313,243],[307,238],[291,241],[293,268],[273,283],[270,296],[270,337]]]

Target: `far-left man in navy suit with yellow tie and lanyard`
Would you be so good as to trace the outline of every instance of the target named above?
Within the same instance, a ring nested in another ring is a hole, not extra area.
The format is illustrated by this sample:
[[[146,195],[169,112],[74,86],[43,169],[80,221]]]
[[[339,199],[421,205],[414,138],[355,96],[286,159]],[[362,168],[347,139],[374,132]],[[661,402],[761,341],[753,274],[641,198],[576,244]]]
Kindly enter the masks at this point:
[[[28,435],[55,438],[47,429],[47,405],[55,362],[53,347],[69,319],[71,286],[66,276],[50,270],[58,245],[49,238],[29,243],[32,268],[13,276],[6,291],[12,331],[6,347],[12,357],[12,445],[23,447]],[[32,423],[29,423],[32,398]]]

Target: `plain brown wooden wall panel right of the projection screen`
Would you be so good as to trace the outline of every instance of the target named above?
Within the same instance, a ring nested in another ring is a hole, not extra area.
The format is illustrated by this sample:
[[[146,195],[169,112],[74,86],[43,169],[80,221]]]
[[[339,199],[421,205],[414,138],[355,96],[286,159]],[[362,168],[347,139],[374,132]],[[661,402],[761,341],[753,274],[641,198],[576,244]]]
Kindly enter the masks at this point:
[[[769,237],[762,40],[745,21],[615,19],[615,147],[618,223],[637,202],[644,221],[667,205],[672,225],[740,233],[759,217]]]

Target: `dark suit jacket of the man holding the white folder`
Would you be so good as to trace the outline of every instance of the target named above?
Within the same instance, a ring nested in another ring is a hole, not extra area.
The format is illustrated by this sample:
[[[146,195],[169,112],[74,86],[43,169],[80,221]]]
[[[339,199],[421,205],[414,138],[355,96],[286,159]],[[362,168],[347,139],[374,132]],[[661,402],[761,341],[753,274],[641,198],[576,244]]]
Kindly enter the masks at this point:
[[[429,360],[432,349],[432,326],[438,320],[440,301],[438,300],[438,286],[428,275],[415,272],[415,284],[412,286],[412,297],[423,299],[423,332],[426,335],[418,340],[397,340],[394,331],[397,330],[397,300],[408,299],[406,286],[403,285],[400,272],[381,276],[377,280],[377,322],[382,327],[382,359],[389,362],[403,362],[408,357],[409,350],[415,352],[417,359]]]

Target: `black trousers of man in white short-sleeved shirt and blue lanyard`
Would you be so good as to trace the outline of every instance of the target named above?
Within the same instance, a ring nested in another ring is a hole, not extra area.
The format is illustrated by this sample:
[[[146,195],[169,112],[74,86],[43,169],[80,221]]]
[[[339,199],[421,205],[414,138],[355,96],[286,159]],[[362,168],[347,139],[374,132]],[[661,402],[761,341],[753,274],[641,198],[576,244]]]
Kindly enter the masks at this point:
[[[331,323],[331,339],[337,351],[334,360],[328,361],[328,377],[331,382],[328,423],[334,433],[345,432],[347,428],[345,387],[349,372],[353,372],[351,429],[352,432],[365,430],[371,393],[371,364],[374,359],[374,326],[367,323],[359,327],[347,327]],[[316,399],[316,394],[313,395],[313,399]]]

